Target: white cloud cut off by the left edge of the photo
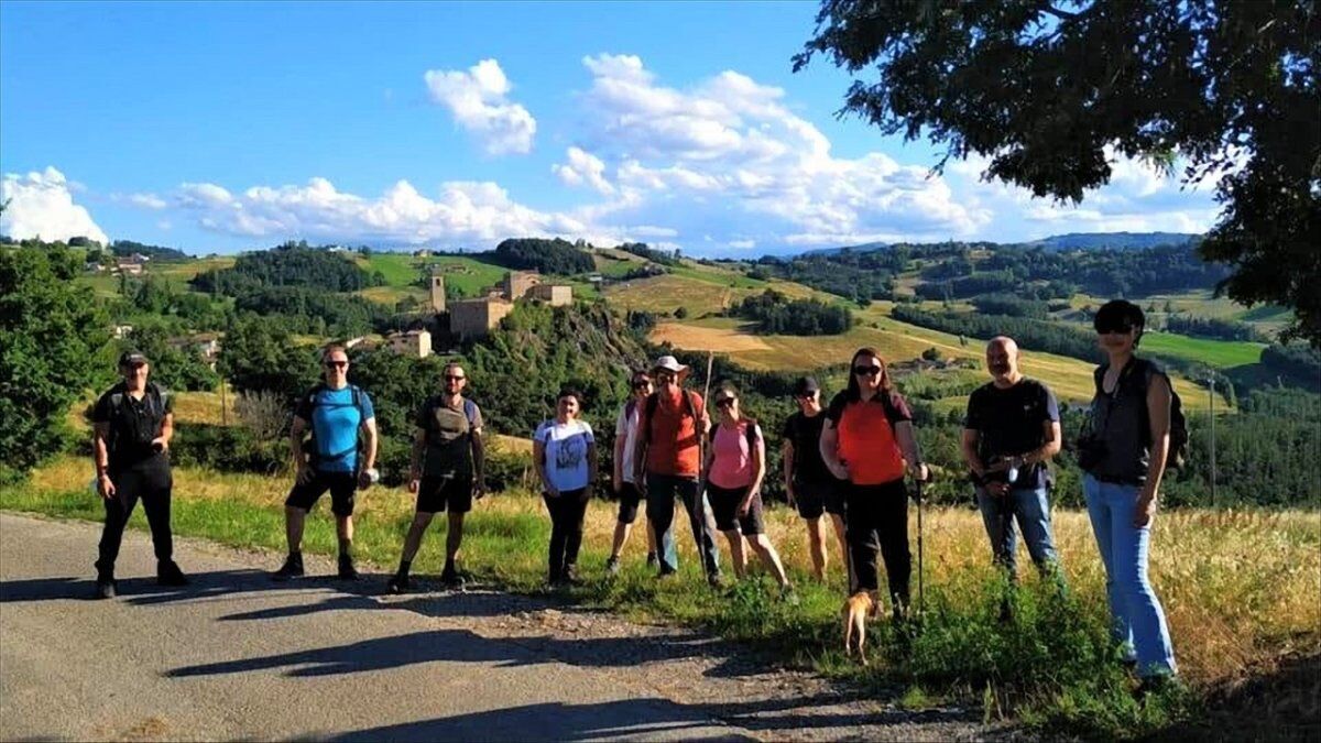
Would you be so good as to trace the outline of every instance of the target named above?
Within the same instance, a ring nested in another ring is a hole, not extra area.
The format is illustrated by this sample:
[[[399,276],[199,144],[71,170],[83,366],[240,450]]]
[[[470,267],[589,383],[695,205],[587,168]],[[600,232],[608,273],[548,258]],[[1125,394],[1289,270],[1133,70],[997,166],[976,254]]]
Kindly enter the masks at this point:
[[[0,181],[0,201],[8,201],[4,214],[0,214],[0,231],[13,238],[67,241],[86,237],[100,243],[110,242],[87,208],[74,204],[71,184],[55,168],[48,167],[25,176],[5,173],[4,181]]]

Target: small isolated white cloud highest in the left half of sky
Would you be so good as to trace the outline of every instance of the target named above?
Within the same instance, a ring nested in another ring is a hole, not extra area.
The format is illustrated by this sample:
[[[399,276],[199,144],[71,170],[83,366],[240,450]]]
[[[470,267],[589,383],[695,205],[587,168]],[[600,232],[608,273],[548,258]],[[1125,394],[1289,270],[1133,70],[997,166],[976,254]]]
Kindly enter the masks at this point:
[[[428,70],[423,79],[432,100],[449,108],[454,122],[481,140],[487,155],[532,151],[536,119],[509,100],[513,86],[495,59],[482,59],[466,71]]]

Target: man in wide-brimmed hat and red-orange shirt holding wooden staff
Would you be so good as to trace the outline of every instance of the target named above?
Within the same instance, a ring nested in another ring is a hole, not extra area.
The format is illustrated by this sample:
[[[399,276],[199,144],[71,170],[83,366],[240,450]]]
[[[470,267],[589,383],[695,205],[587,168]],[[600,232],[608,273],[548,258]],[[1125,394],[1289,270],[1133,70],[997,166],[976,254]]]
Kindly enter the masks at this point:
[[[707,580],[720,584],[720,562],[713,524],[708,524],[701,494],[703,436],[711,428],[705,401],[683,389],[690,368],[672,356],[651,366],[655,391],[638,416],[637,472],[634,481],[646,489],[647,524],[655,531],[660,575],[679,568],[674,542],[674,498],[683,498],[692,538],[701,553]]]

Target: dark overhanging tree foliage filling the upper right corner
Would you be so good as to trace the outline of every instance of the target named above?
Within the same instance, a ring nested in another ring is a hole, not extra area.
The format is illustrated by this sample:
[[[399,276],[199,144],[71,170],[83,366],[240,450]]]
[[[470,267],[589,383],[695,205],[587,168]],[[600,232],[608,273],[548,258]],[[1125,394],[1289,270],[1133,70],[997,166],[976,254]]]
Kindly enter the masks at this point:
[[[985,177],[1073,202],[1114,157],[1217,180],[1201,246],[1231,297],[1295,309],[1321,344],[1321,85],[1314,3],[875,3],[824,0],[795,56],[856,79],[844,110],[929,137]]]

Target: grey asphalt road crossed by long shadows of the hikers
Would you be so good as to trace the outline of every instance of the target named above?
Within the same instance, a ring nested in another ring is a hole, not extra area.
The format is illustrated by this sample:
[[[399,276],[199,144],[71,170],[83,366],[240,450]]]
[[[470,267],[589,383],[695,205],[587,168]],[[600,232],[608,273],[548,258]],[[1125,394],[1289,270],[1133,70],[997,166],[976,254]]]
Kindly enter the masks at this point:
[[[92,524],[0,513],[0,739],[976,734],[960,714],[915,721],[808,699],[785,674],[713,673],[733,668],[719,640],[577,617],[546,602],[528,611],[535,599],[503,594],[380,598],[379,576],[273,583],[266,571],[276,557],[201,541],[176,541],[193,584],[166,590],[155,583],[149,539],[128,531],[120,596],[90,600],[98,534]],[[332,571],[329,562],[308,567]],[[754,693],[770,687],[779,691]]]

